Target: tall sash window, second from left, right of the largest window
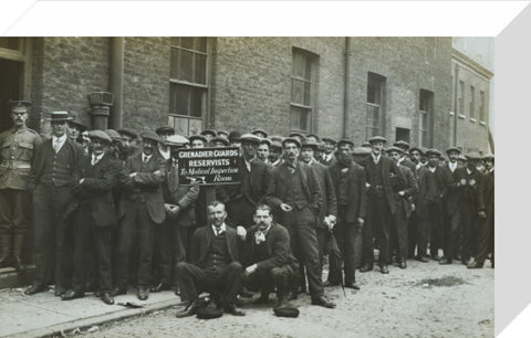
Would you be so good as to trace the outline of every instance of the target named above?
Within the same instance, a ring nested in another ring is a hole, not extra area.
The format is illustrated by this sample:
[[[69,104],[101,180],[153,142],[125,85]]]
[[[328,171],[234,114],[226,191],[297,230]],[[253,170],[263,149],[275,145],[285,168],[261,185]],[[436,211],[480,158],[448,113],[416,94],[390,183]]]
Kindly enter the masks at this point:
[[[310,133],[315,110],[319,55],[293,49],[291,75],[291,131]]]

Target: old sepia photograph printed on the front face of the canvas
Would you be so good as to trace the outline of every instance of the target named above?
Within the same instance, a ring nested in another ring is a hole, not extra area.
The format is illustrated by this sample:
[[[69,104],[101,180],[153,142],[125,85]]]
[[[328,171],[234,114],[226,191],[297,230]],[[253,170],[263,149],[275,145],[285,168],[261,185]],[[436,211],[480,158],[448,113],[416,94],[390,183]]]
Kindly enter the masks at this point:
[[[0,336],[492,337],[493,50],[0,38]]]

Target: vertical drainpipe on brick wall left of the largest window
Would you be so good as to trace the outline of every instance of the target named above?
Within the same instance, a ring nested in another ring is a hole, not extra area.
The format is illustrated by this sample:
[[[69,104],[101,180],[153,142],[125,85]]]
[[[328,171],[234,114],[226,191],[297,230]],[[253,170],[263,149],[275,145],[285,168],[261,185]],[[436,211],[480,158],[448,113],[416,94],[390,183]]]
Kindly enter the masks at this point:
[[[124,38],[111,38],[110,91],[114,94],[110,128],[119,129],[124,104]]]

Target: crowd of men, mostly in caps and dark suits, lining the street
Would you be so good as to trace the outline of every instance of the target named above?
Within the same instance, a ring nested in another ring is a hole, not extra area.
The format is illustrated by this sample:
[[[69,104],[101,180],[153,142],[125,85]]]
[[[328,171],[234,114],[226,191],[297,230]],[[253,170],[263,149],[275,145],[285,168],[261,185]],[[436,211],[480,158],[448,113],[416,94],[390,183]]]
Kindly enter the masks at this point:
[[[381,136],[355,147],[262,129],[88,131],[67,112],[51,113],[42,140],[25,126],[30,106],[10,102],[13,127],[0,134],[0,266],[24,268],[33,223],[27,295],[55,284],[64,300],[95,292],[114,304],[133,284],[140,300],[174,289],[188,304],[178,317],[197,313],[201,292],[241,316],[249,291],[290,307],[306,285],[313,305],[335,307],[324,286],[360,289],[355,270],[373,270],[375,247],[383,274],[409,258],[479,268],[490,255],[493,267],[492,155],[384,148]],[[241,149],[239,183],[179,183],[179,149],[229,146]]]

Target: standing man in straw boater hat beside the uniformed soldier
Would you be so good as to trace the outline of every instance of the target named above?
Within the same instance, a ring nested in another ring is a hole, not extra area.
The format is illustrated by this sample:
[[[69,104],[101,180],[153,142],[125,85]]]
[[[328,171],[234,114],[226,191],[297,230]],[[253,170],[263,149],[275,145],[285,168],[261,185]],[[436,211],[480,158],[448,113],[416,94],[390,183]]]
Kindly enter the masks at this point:
[[[35,149],[30,187],[33,188],[35,276],[24,291],[33,295],[55,281],[55,295],[70,287],[72,229],[64,219],[72,199],[70,186],[82,155],[79,144],[66,137],[67,112],[52,112],[52,137]],[[55,257],[55,262],[54,262]]]

